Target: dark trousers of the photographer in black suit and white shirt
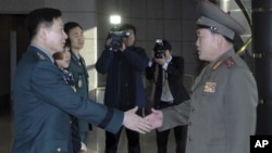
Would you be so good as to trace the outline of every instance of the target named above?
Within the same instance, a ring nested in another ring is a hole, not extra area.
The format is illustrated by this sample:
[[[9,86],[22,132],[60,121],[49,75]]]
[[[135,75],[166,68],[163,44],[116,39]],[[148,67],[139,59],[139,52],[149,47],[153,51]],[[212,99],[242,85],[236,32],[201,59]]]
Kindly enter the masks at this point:
[[[175,152],[185,153],[187,126],[177,126],[173,129],[174,129],[175,143],[176,143]],[[168,140],[169,140],[170,130],[171,129],[163,130],[163,131],[156,130],[158,153],[168,152]]]

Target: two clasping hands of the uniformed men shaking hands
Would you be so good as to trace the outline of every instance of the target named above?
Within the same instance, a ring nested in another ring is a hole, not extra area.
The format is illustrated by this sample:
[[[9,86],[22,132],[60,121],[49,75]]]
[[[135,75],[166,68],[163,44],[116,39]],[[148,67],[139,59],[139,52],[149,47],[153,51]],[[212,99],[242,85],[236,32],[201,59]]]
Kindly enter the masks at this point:
[[[134,109],[124,113],[124,127],[135,130],[139,133],[147,133],[162,126],[163,114],[161,111],[151,109],[152,113],[143,118],[136,114],[137,110],[138,107],[135,106]]]

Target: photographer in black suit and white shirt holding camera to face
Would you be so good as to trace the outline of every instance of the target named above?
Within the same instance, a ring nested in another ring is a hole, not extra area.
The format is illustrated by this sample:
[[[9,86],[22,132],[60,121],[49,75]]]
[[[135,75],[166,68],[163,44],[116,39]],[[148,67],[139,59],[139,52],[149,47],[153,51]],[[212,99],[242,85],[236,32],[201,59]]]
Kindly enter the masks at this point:
[[[164,39],[157,39],[151,52],[150,62],[146,68],[146,77],[153,81],[150,101],[157,110],[176,105],[189,99],[189,94],[183,86],[184,59],[171,54],[172,46]],[[176,153],[185,152],[184,126],[174,129]],[[158,153],[166,153],[170,129],[158,131]]]

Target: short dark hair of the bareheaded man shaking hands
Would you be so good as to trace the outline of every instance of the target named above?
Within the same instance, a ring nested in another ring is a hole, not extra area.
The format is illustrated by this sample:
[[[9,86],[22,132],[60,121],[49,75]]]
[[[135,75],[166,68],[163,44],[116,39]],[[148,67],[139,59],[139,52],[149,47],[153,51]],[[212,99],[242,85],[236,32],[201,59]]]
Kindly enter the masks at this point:
[[[53,20],[61,15],[62,12],[60,10],[52,8],[41,8],[29,12],[26,17],[26,27],[29,38],[33,39],[33,37],[37,35],[38,27],[41,24],[50,27],[53,24]]]

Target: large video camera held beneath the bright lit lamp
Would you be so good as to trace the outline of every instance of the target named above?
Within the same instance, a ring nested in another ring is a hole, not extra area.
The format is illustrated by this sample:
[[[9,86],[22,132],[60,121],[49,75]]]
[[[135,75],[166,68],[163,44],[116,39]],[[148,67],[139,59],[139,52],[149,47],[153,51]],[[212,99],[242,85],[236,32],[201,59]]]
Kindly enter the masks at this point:
[[[114,52],[116,52],[123,46],[123,38],[128,38],[131,34],[125,30],[111,30],[109,35],[111,38],[110,47]]]

